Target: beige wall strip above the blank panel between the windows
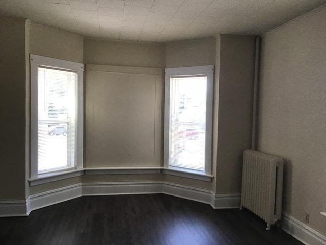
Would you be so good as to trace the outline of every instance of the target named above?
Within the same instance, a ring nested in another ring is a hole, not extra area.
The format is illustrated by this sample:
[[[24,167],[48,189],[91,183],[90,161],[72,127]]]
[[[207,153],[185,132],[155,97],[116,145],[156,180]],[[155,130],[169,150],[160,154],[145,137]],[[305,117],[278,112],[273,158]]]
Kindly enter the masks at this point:
[[[84,63],[163,68],[165,46],[162,43],[85,38]]]

